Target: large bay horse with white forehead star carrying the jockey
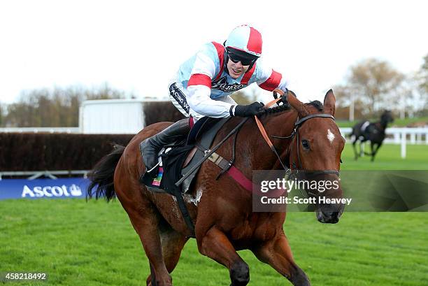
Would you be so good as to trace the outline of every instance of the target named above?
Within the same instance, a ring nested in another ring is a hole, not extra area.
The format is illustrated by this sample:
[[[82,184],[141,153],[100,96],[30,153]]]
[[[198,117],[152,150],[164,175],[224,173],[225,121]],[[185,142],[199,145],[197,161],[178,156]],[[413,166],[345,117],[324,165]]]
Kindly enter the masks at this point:
[[[285,164],[298,169],[331,170],[326,171],[326,176],[338,180],[345,140],[334,122],[336,99],[333,91],[327,92],[324,103],[302,103],[291,94],[288,94],[287,101],[289,108],[277,106],[260,116],[266,133],[275,135],[271,143],[278,151],[277,155]],[[240,120],[239,117],[231,117],[218,131],[213,145],[234,129]],[[292,285],[311,285],[306,273],[292,257],[283,229],[286,213],[253,212],[252,194],[229,176],[220,176],[216,180],[219,169],[212,162],[206,161],[201,165],[186,194],[192,196],[186,205],[194,222],[194,234],[177,211],[175,197],[151,192],[140,183],[145,166],[139,143],[170,124],[152,124],[136,134],[126,148],[116,146],[94,166],[87,188],[89,198],[104,196],[109,201],[117,196],[127,212],[150,263],[146,285],[173,285],[171,272],[178,264],[185,243],[193,235],[202,255],[229,269],[232,286],[247,285],[250,280],[248,264],[236,252],[243,249],[251,250],[257,259],[276,269]],[[252,170],[281,169],[278,157],[256,129],[255,120],[247,120],[238,132],[236,142],[225,141],[217,150],[222,157],[231,157],[236,143],[234,166],[247,178],[251,178]],[[92,191],[94,187],[95,192]],[[328,195],[341,198],[343,192],[338,187]],[[341,203],[318,204],[316,217],[320,222],[336,223],[343,208]]]

